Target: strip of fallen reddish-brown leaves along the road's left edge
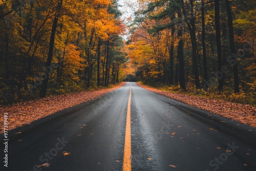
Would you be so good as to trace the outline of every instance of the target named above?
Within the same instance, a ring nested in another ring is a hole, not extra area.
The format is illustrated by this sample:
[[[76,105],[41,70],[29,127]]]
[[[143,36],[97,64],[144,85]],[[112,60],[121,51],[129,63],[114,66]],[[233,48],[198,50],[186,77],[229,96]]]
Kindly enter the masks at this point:
[[[121,82],[113,88],[103,88],[94,91],[56,95],[30,101],[9,104],[0,108],[1,113],[8,113],[8,131],[16,127],[30,124],[40,118],[52,115],[58,111],[71,108],[82,102],[93,100],[106,93],[122,87],[126,82]],[[72,110],[67,110],[72,111]],[[0,118],[0,134],[4,133],[4,117]],[[18,133],[17,133],[18,134]]]

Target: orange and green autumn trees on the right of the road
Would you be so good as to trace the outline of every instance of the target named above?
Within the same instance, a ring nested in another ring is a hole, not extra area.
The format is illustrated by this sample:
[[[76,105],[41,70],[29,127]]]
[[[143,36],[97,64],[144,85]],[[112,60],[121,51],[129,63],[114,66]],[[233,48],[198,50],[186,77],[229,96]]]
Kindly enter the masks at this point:
[[[126,52],[138,80],[255,105],[255,1],[139,0]]]

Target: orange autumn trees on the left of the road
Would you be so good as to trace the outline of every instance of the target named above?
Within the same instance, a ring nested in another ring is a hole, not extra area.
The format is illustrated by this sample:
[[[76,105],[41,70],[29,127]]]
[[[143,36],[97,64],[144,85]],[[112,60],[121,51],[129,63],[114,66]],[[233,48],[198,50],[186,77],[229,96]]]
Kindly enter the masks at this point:
[[[108,87],[127,62],[114,0],[0,1],[2,104]]]

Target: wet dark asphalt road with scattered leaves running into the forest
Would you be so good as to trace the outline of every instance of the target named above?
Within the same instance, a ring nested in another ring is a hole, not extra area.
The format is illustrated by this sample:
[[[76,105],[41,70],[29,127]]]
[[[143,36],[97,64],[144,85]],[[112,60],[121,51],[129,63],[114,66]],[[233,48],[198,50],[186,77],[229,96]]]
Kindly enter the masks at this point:
[[[13,131],[1,170],[256,170],[255,129],[134,82],[54,116]]]

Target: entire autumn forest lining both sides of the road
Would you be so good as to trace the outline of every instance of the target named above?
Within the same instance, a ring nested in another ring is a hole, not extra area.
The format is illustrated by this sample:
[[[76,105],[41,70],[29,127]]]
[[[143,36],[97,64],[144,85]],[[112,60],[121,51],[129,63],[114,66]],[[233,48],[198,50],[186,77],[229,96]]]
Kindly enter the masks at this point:
[[[0,103],[128,80],[255,105],[254,0],[126,4],[0,1]]]

